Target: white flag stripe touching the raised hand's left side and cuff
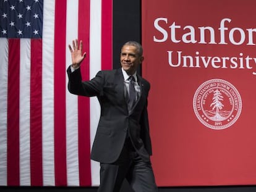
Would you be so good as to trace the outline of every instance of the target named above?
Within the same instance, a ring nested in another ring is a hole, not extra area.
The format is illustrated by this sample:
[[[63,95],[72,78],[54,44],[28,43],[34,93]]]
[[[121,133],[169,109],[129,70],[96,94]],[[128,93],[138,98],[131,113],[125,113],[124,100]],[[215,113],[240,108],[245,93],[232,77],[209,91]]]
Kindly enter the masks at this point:
[[[77,0],[67,0],[67,29],[66,43],[78,34],[78,8]],[[66,45],[66,69],[71,64],[70,51]],[[64,72],[65,73],[65,72]],[[66,85],[68,77],[66,76]],[[66,148],[67,148],[67,185],[79,186],[79,149],[78,149],[78,111],[77,96],[70,94],[66,86]]]

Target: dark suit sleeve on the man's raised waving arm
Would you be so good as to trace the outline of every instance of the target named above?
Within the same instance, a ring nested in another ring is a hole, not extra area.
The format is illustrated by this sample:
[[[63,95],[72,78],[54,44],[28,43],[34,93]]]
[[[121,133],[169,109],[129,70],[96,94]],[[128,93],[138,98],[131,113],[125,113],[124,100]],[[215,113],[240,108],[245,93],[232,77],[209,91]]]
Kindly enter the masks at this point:
[[[67,87],[70,93],[88,97],[99,96],[102,93],[104,85],[103,72],[98,72],[95,78],[90,81],[82,81],[80,68],[71,72],[69,67],[67,69],[67,75],[69,77]]]

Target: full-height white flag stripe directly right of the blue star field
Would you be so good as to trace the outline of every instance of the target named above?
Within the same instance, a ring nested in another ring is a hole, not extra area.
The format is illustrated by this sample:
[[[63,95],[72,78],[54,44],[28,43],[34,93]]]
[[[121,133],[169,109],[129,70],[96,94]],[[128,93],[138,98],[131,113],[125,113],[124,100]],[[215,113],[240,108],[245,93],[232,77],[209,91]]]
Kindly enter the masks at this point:
[[[55,1],[43,2],[43,185],[54,186],[54,14]]]

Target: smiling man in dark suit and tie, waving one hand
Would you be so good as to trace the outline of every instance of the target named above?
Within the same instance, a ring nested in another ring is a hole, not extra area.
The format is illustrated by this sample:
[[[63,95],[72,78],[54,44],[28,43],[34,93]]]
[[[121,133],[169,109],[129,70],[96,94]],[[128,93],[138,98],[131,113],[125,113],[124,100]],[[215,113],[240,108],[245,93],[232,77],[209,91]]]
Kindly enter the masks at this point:
[[[147,97],[150,83],[137,74],[142,46],[129,41],[121,49],[121,69],[105,70],[82,81],[80,64],[86,53],[82,41],[69,45],[72,65],[67,69],[70,93],[96,96],[100,121],[91,158],[100,162],[100,192],[119,191],[124,178],[136,192],[157,191],[151,167]]]

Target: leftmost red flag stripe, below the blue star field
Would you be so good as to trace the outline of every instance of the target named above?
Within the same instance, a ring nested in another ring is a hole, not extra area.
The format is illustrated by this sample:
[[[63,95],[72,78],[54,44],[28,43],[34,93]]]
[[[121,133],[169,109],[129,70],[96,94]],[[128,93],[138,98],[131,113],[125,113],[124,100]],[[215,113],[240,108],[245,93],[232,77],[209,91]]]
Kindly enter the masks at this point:
[[[19,186],[20,40],[9,40],[8,59],[7,185]]]

